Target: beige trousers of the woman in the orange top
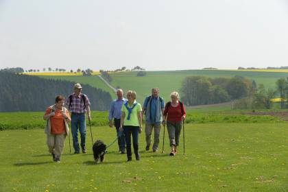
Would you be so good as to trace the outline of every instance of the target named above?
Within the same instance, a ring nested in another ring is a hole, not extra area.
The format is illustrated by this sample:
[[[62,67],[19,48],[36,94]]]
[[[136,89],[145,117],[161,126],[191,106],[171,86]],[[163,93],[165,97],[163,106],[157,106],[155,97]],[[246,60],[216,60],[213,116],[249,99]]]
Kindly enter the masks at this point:
[[[47,146],[49,153],[54,153],[57,158],[60,158],[67,134],[47,134]]]

